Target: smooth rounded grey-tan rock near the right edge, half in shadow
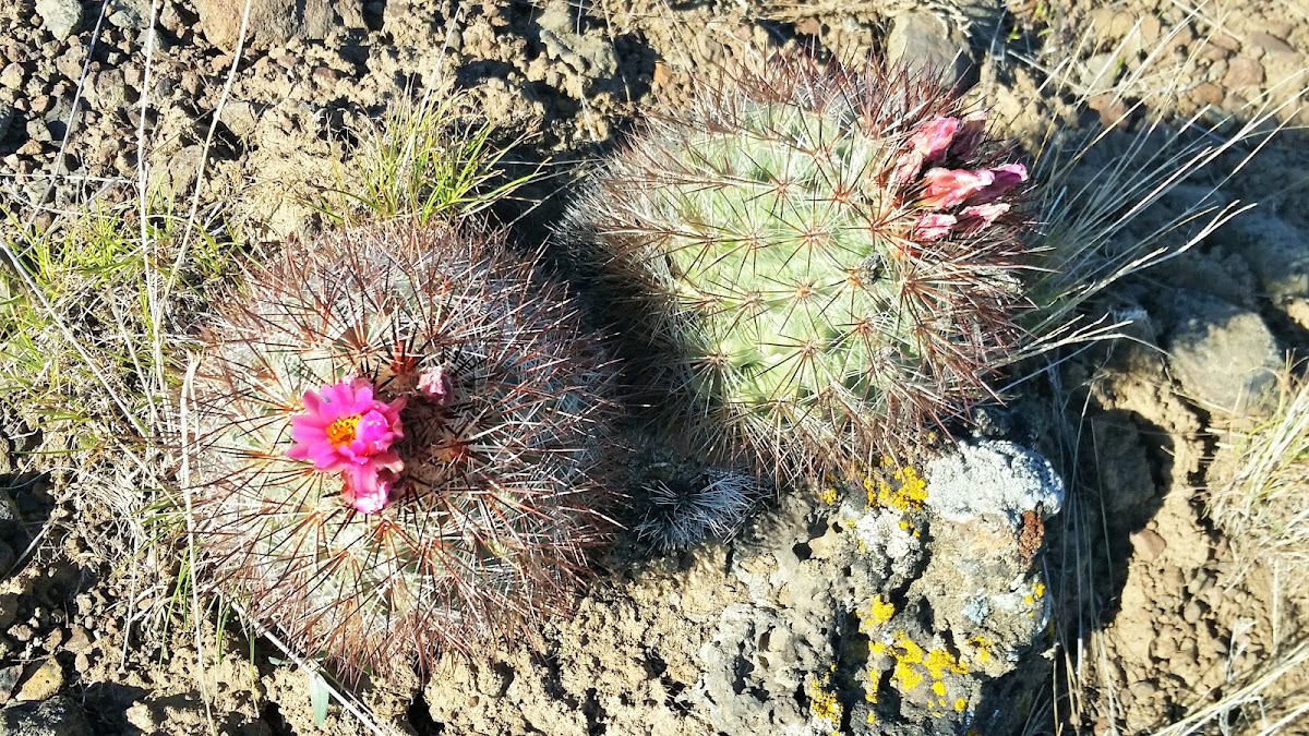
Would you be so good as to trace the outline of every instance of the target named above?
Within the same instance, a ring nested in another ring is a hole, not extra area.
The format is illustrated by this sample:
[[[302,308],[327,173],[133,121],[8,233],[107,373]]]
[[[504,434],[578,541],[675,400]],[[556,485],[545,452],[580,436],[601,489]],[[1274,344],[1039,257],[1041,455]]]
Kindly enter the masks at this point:
[[[1263,320],[1200,292],[1182,292],[1174,309],[1168,358],[1186,394],[1232,414],[1271,409],[1283,358]]]

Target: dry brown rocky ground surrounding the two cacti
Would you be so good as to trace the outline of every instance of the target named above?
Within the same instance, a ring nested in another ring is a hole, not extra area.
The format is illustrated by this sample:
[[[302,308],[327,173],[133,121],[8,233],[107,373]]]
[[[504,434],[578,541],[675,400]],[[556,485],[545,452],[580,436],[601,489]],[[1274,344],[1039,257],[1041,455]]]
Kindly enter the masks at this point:
[[[675,107],[692,72],[758,50],[953,65],[1025,141],[1049,119],[1115,123],[1135,100],[1174,120],[1249,117],[1302,88],[1309,63],[1309,14],[1292,4],[257,0],[241,43],[243,5],[0,7],[5,210],[48,221],[128,195],[144,172],[152,190],[188,203],[199,187],[203,212],[276,242],[323,227],[314,203],[370,120],[416,90],[458,88],[505,141],[521,139],[524,166],[564,172],[526,191],[546,199],[516,227],[534,244],[573,177],[643,111]],[[1126,156],[1144,119],[1123,122],[1086,170]],[[1148,233],[1199,186],[1259,203],[1111,295],[1136,318],[1132,340],[1079,354],[995,415],[991,433],[1051,458],[1066,494],[1020,462],[1031,470],[1017,490],[979,511],[952,506],[948,478],[975,478],[983,461],[962,475],[891,466],[869,483],[888,482],[894,503],[870,504],[857,483],[812,488],[761,504],[730,543],[652,555],[626,540],[539,642],[373,684],[368,706],[414,733],[1144,733],[1228,693],[1309,634],[1302,585],[1238,579],[1203,506],[1224,409],[1251,403],[1285,351],[1309,347],[1302,144],[1288,128],[1257,165],[1196,177],[1134,225]],[[25,454],[42,436],[21,416],[10,407],[0,427],[3,728],[360,732],[336,707],[315,723],[304,672],[234,627],[220,640],[178,631],[168,612],[164,634],[135,621],[160,610],[158,587],[131,574],[151,578],[149,561],[81,536],[77,469]],[[1028,457],[986,443],[978,453]],[[1305,688],[1301,672],[1272,695]]]

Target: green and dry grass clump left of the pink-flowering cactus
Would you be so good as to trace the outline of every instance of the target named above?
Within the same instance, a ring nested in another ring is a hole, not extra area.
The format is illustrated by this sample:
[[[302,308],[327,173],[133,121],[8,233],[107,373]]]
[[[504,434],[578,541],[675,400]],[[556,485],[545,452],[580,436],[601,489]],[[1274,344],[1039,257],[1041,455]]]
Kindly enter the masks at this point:
[[[143,217],[135,203],[93,202],[43,228],[7,213],[0,401],[41,433],[26,461],[33,470],[77,469],[84,483],[164,485],[154,440],[173,431],[175,356],[204,289],[232,268],[236,245],[215,232],[166,207]],[[153,503],[124,491],[85,498],[120,521]]]

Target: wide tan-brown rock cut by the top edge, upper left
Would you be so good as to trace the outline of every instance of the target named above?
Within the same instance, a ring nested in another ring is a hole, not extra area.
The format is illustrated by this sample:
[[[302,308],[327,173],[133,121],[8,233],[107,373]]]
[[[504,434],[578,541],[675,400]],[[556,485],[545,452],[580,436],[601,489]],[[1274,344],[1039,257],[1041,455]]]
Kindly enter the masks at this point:
[[[241,39],[246,0],[196,0],[204,37],[232,51]],[[246,46],[271,48],[296,38],[321,41],[338,29],[363,29],[363,0],[250,0]]]

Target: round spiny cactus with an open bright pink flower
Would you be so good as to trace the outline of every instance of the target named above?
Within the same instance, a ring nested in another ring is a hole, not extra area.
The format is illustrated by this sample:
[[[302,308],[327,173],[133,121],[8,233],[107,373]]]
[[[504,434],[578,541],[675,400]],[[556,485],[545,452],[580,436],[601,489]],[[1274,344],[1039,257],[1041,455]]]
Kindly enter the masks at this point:
[[[343,673],[562,608],[609,538],[610,359],[499,233],[291,244],[207,334],[208,580]]]

